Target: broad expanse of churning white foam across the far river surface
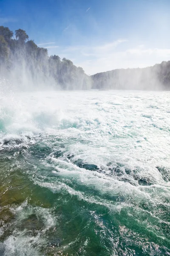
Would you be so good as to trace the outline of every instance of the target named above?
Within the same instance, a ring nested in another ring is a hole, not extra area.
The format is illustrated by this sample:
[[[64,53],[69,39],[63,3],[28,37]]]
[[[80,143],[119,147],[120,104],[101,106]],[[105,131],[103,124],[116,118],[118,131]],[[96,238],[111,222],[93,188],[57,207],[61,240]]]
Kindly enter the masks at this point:
[[[150,102],[154,102],[154,108]],[[41,139],[53,153],[64,145],[61,157],[44,160],[45,165],[54,167],[54,176],[63,178],[63,183],[46,182],[38,172],[33,177],[35,182],[36,177],[39,182],[42,179],[41,185],[53,191],[62,189],[66,186],[64,180],[74,177],[78,184],[101,194],[122,193],[156,203],[161,196],[170,197],[170,183],[156,169],[170,167],[169,103],[170,92],[60,91],[18,93],[9,99],[1,96],[0,145],[6,139],[16,144],[18,139],[27,147]],[[73,155],[71,160],[68,155]],[[105,173],[77,167],[73,163],[79,159],[98,168],[103,166]],[[108,163],[112,169],[122,165],[122,177],[128,177],[131,184],[111,175]],[[126,175],[125,168],[132,174]],[[140,186],[134,179],[135,170],[139,178],[150,178],[155,185]]]

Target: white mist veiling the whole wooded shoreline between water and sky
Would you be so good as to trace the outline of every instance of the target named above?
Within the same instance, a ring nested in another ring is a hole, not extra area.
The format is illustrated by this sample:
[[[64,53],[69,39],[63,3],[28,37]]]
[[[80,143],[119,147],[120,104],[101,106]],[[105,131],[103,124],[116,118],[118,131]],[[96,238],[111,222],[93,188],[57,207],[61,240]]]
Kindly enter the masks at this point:
[[[15,34],[15,35],[14,35]],[[169,90],[170,61],[153,67],[117,69],[92,76],[38,47],[25,30],[0,26],[1,90]]]

